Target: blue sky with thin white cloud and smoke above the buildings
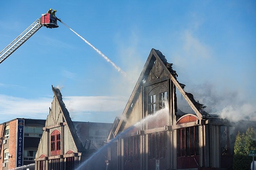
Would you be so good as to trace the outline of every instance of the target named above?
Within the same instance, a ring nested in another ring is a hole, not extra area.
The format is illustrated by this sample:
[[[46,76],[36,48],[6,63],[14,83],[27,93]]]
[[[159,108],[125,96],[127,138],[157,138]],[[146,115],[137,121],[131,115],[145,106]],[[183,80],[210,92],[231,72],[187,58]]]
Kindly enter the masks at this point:
[[[113,122],[152,48],[210,112],[255,115],[255,1],[3,1],[0,48],[49,8],[130,79],[61,23],[43,27],[0,65],[0,122],[45,119],[51,85],[73,120]]]

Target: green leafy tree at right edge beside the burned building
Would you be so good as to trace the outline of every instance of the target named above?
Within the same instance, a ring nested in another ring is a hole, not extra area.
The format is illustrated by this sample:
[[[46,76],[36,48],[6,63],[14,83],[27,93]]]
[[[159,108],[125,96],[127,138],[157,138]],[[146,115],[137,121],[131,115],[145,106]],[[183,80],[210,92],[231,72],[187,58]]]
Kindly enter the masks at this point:
[[[248,170],[251,167],[252,157],[248,156],[249,150],[254,150],[255,145],[255,131],[253,127],[249,127],[246,133],[238,132],[234,145],[234,170]]]

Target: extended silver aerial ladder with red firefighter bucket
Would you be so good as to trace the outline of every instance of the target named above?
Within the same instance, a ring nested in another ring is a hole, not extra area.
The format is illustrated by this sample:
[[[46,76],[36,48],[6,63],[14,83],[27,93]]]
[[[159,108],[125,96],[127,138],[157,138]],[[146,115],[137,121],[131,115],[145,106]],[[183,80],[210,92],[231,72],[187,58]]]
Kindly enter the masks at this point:
[[[55,15],[45,13],[41,18],[32,23],[25,31],[23,31],[17,38],[15,38],[7,47],[0,53],[0,64],[9,57],[15,50],[17,50],[28,38],[34,35],[41,27],[58,28],[57,20],[61,22]]]

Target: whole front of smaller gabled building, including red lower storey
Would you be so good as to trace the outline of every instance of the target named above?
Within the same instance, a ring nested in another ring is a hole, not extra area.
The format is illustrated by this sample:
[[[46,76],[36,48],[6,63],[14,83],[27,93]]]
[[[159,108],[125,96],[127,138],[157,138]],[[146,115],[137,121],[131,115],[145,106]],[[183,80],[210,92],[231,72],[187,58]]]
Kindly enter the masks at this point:
[[[36,153],[35,169],[74,169],[87,152],[77,136],[60,90],[52,87],[52,91],[54,99]]]

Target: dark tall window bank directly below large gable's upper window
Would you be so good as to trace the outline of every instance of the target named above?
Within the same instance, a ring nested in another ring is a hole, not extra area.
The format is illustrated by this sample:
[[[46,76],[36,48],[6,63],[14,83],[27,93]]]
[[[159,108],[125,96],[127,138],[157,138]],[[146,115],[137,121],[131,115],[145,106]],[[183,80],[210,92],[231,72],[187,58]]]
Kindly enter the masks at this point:
[[[160,159],[166,157],[167,135],[166,132],[148,134],[148,157]]]

